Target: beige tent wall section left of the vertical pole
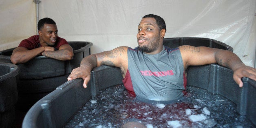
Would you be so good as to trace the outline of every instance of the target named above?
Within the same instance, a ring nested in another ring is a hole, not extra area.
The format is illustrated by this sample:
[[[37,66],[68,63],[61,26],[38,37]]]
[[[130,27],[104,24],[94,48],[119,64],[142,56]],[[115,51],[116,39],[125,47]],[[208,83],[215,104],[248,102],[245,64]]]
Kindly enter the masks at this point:
[[[0,51],[17,47],[36,34],[35,3],[32,0],[0,1]]]

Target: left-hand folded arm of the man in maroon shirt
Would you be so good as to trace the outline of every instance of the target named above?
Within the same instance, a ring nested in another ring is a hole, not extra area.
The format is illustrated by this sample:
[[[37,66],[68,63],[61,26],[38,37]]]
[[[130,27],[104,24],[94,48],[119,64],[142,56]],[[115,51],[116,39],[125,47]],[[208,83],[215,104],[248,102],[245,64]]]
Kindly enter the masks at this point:
[[[22,64],[25,63],[37,55],[41,55],[43,51],[54,51],[53,47],[50,46],[42,46],[36,49],[28,50],[25,47],[17,47],[13,50],[11,55],[11,62],[13,64]]]

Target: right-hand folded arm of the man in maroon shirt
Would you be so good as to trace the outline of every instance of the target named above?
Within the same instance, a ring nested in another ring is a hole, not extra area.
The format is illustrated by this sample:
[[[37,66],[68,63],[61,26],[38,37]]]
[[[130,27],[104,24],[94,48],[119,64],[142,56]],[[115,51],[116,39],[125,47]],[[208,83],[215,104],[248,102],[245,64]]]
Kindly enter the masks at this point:
[[[57,59],[57,60],[72,60],[73,59],[73,48],[68,44],[63,44],[57,51],[44,51],[43,56]]]

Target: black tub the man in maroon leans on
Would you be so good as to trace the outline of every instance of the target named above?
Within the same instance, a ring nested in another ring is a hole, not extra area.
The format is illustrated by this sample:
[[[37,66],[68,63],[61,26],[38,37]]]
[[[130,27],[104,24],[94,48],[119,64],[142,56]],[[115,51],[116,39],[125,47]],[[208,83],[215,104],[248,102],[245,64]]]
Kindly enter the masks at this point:
[[[91,42],[68,42],[73,48],[73,59],[60,61],[38,56],[20,68],[18,79],[19,100],[17,108],[28,110],[35,102],[67,81],[68,75],[80,65],[81,60],[90,55]],[[13,48],[15,49],[15,48]],[[0,62],[11,63],[13,49],[0,51]]]

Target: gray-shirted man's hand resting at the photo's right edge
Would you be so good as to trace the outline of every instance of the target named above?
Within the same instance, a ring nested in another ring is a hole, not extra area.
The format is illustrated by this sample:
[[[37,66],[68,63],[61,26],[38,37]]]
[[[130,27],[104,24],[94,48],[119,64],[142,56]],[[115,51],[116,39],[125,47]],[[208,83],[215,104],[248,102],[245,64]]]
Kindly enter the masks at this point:
[[[239,87],[243,87],[243,82],[241,80],[242,77],[248,77],[256,81],[256,68],[252,68],[250,66],[239,66],[234,70],[233,79],[239,85]]]

